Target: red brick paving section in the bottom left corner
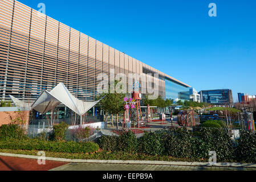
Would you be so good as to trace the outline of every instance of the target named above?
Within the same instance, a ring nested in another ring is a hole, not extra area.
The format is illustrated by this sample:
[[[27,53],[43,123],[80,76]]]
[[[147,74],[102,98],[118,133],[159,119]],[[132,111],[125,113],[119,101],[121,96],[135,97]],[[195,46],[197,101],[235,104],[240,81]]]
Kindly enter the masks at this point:
[[[39,165],[37,159],[0,156],[0,171],[48,171],[64,164],[67,162],[46,160],[45,165]]]

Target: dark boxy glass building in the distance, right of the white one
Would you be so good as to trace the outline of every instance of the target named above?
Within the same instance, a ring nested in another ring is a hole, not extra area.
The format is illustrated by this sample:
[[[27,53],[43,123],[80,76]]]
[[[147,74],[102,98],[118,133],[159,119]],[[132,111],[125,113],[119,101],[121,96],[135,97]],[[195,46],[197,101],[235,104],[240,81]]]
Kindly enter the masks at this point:
[[[232,90],[217,89],[217,90],[201,90],[201,102],[206,102],[213,105],[233,105]]]

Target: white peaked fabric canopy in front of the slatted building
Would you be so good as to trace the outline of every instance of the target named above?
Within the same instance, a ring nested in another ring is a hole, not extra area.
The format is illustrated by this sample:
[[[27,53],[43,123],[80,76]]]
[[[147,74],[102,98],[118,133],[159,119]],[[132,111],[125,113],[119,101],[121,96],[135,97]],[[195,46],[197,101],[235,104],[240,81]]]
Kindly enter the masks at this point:
[[[15,106],[27,104],[13,96],[10,97],[11,100],[13,100]],[[30,105],[30,110],[34,109],[39,113],[43,114],[49,110],[54,109],[54,107],[58,106],[59,104],[64,104],[76,114],[80,115],[80,123],[82,124],[82,115],[85,114],[92,107],[94,107],[100,100],[81,101],[78,98],[74,97],[70,93],[70,91],[68,91],[66,86],[62,82],[60,82],[50,92],[44,90],[44,92],[40,94],[36,101]]]

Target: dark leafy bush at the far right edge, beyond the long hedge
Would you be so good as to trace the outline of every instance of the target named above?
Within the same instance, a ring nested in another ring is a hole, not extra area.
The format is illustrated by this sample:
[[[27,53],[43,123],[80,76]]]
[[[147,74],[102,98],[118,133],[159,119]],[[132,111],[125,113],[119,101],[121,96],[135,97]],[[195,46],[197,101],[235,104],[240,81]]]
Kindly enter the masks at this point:
[[[236,155],[239,161],[256,163],[256,134],[242,131],[238,139]]]

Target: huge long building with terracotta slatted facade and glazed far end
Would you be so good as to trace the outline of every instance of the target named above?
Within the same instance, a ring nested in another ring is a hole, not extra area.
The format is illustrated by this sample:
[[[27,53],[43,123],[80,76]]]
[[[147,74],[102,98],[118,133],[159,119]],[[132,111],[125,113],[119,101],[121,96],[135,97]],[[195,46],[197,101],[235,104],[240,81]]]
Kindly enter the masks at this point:
[[[184,82],[18,1],[0,1],[0,100],[9,100],[9,94],[35,100],[63,82],[78,99],[94,101],[97,76],[111,78],[111,69],[115,75],[158,73],[162,98],[189,100]]]

